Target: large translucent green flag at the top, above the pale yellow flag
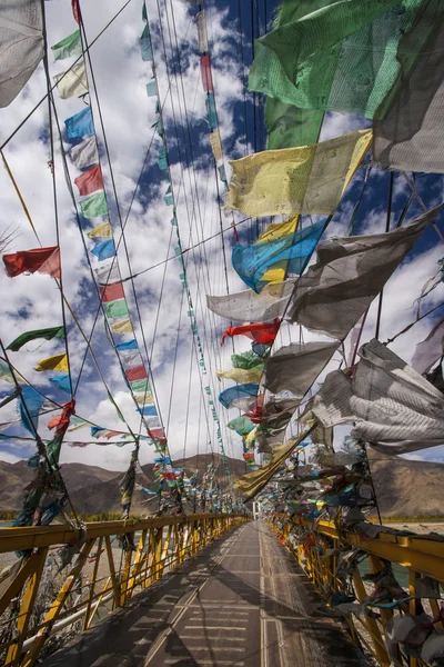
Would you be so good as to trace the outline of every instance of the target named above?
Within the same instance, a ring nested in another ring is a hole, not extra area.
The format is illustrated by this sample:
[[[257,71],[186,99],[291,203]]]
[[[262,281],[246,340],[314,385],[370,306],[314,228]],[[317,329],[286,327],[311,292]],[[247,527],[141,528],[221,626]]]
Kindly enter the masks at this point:
[[[278,17],[279,27],[255,42],[250,71],[250,89],[269,96],[270,148],[278,148],[280,140],[279,148],[286,146],[292,131],[286,122],[289,109],[270,98],[304,110],[373,118],[397,80],[398,42],[423,2],[287,0]],[[282,24],[285,20],[290,22]],[[295,139],[313,141],[319,116],[293,111],[293,118]]]

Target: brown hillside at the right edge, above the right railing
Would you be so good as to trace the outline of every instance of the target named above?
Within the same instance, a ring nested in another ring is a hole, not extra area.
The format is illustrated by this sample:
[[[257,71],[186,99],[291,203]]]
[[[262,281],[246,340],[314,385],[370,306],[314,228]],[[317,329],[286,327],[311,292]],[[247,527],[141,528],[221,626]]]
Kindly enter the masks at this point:
[[[383,517],[442,517],[444,464],[414,461],[369,449],[380,512]]]

